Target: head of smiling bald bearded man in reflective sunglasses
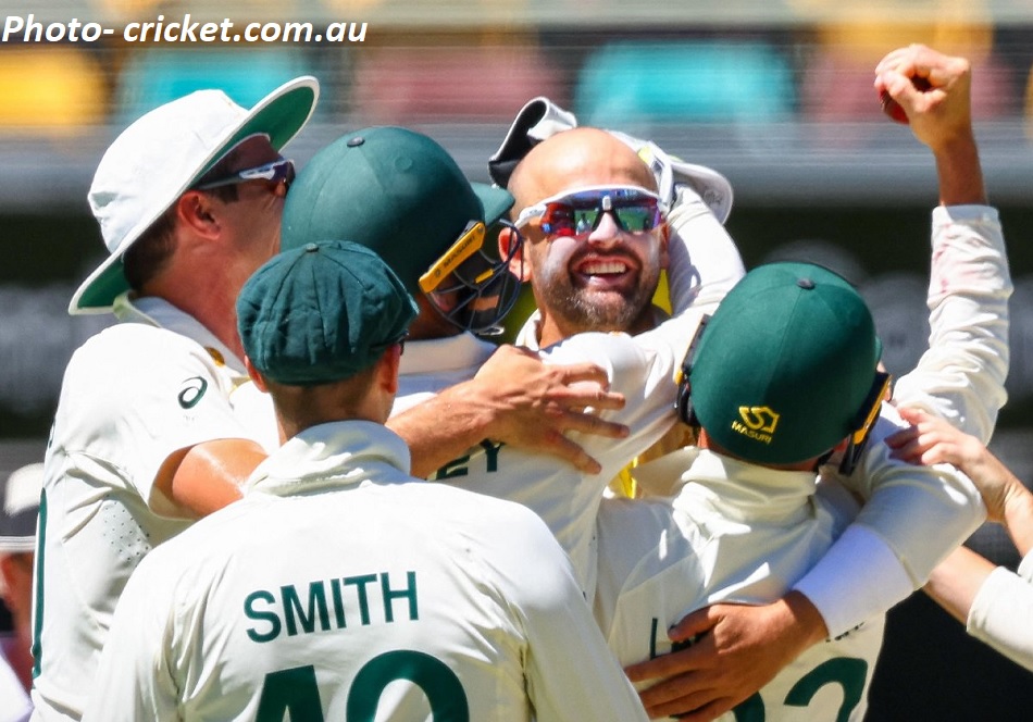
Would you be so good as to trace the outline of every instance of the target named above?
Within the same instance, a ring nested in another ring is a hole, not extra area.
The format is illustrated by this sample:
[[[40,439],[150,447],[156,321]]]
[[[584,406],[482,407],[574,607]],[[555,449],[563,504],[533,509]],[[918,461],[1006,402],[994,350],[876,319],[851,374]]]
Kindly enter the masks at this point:
[[[544,146],[544,147],[543,147]],[[532,150],[516,166],[510,191],[516,220],[527,235],[524,276],[542,311],[540,346],[585,331],[639,333],[656,325],[650,301],[668,265],[668,229],[656,198],[637,219],[650,233],[621,227],[621,206],[648,199],[657,185],[651,171],[612,135],[596,128],[562,133]],[[615,213],[595,216],[595,227],[574,222],[552,242],[539,242],[559,216],[584,215],[601,202],[592,189],[626,188],[626,199],[613,198]],[[575,196],[568,190],[581,189]],[[551,221],[551,223],[550,223]],[[628,225],[634,223],[630,221]],[[590,231],[582,242],[582,234]],[[623,232],[623,233],[622,233]],[[530,273],[528,273],[530,270]],[[530,276],[530,278],[528,278]]]

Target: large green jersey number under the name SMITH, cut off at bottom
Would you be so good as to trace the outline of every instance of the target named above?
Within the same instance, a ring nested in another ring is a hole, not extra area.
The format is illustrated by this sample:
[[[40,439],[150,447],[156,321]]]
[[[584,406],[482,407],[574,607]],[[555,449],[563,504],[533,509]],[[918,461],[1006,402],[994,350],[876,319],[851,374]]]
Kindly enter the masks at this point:
[[[440,660],[412,650],[378,655],[359,670],[348,693],[346,722],[373,722],[384,688],[396,680],[408,680],[423,689],[434,722],[470,722],[466,694],[456,673]],[[312,664],[265,675],[256,722],[283,722],[286,712],[291,720],[323,722]]]

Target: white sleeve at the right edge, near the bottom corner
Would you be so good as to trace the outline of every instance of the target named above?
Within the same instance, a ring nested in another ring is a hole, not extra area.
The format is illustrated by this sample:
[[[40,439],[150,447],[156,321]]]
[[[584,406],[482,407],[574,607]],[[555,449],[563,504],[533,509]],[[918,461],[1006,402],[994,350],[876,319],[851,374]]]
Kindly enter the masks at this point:
[[[1033,553],[1015,574],[998,567],[980,587],[969,610],[969,634],[1033,670]]]

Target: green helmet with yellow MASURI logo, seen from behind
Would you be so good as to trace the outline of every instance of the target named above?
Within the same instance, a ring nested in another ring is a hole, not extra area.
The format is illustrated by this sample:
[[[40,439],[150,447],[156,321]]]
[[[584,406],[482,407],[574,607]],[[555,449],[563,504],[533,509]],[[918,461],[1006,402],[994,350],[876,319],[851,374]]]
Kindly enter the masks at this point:
[[[797,463],[848,438],[849,473],[889,382],[876,369],[881,350],[868,306],[842,276],[812,263],[761,265],[694,344],[679,411],[754,463]]]

